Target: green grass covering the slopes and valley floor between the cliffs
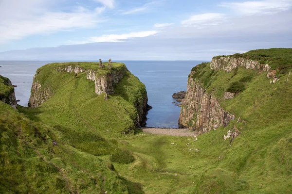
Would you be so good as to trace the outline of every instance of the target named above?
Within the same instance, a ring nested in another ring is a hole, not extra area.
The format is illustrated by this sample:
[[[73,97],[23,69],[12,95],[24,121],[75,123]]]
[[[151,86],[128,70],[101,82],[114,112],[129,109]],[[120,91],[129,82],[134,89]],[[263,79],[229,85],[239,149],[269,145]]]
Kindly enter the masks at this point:
[[[0,193],[291,193],[292,78],[270,84],[267,72],[208,63],[192,71],[236,115],[196,141],[134,133],[135,101],[146,90],[129,72],[106,101],[84,73],[54,73],[55,95],[38,108],[18,113],[0,102]],[[223,100],[233,82],[245,90]],[[234,126],[241,134],[230,144],[223,136]]]

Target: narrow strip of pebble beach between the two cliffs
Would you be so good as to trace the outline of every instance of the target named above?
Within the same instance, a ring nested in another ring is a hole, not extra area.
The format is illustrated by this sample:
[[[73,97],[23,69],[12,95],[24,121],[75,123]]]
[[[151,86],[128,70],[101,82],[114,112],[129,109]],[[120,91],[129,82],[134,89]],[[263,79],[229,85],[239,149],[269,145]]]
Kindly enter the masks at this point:
[[[146,133],[157,135],[171,135],[171,136],[197,136],[194,131],[189,129],[169,129],[169,128],[142,128]]]

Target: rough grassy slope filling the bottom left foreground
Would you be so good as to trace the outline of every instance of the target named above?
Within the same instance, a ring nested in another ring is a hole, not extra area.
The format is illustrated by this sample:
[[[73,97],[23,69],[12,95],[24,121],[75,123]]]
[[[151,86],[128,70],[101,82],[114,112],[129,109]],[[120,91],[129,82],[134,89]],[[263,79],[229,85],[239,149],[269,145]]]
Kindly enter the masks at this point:
[[[109,166],[0,102],[0,193],[128,193]]]

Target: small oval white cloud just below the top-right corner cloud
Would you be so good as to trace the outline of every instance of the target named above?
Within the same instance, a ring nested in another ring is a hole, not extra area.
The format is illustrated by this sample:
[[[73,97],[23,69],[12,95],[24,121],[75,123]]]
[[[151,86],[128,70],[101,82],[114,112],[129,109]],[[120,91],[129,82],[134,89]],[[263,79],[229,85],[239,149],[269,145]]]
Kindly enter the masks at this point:
[[[190,16],[190,18],[183,20],[184,26],[194,25],[217,25],[220,21],[224,20],[225,15],[219,13],[208,13]]]

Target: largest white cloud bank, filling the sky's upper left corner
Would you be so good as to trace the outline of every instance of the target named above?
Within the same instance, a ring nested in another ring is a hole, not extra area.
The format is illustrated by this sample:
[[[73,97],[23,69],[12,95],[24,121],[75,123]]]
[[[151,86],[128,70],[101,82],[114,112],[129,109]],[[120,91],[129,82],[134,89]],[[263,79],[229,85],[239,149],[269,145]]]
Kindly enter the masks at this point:
[[[0,6],[0,43],[28,35],[52,33],[75,28],[92,28],[102,22],[104,8],[91,11],[82,6],[71,12],[52,12],[49,0],[3,0]]]

